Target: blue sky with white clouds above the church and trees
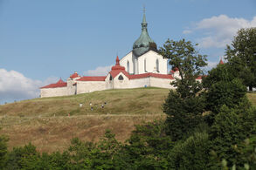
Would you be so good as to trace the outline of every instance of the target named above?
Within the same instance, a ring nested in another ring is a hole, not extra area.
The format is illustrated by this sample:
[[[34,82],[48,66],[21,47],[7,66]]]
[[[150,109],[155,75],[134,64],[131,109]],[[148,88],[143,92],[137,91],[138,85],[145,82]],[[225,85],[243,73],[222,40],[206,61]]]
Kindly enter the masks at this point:
[[[185,38],[217,65],[241,28],[256,26],[255,0],[0,0],[0,104],[39,87],[106,75],[140,36],[143,6],[158,47]]]

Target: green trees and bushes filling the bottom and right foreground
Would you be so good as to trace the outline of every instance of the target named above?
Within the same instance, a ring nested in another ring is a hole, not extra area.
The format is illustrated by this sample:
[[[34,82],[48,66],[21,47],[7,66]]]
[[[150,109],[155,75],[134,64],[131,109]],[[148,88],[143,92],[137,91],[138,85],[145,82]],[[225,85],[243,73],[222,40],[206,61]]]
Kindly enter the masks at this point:
[[[256,108],[246,98],[246,86],[255,84],[242,79],[237,57],[202,76],[206,56],[190,42],[168,40],[159,52],[180,74],[163,103],[166,120],[136,126],[126,143],[110,131],[97,143],[72,139],[63,153],[40,154],[31,144],[8,151],[2,136],[0,168],[256,169]]]

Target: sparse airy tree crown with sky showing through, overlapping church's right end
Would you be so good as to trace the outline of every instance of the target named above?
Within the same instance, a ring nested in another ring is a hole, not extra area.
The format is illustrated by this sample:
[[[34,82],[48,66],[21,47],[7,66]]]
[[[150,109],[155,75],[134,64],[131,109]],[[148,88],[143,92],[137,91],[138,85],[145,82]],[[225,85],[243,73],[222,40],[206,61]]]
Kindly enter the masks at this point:
[[[197,45],[197,44],[196,44]],[[203,74],[202,67],[207,65],[206,55],[201,55],[190,41],[184,39],[174,41],[168,39],[159,52],[163,58],[169,59],[172,69],[177,68],[180,78],[171,84],[176,86],[176,92],[181,98],[194,97],[202,90],[202,85],[196,78]]]

